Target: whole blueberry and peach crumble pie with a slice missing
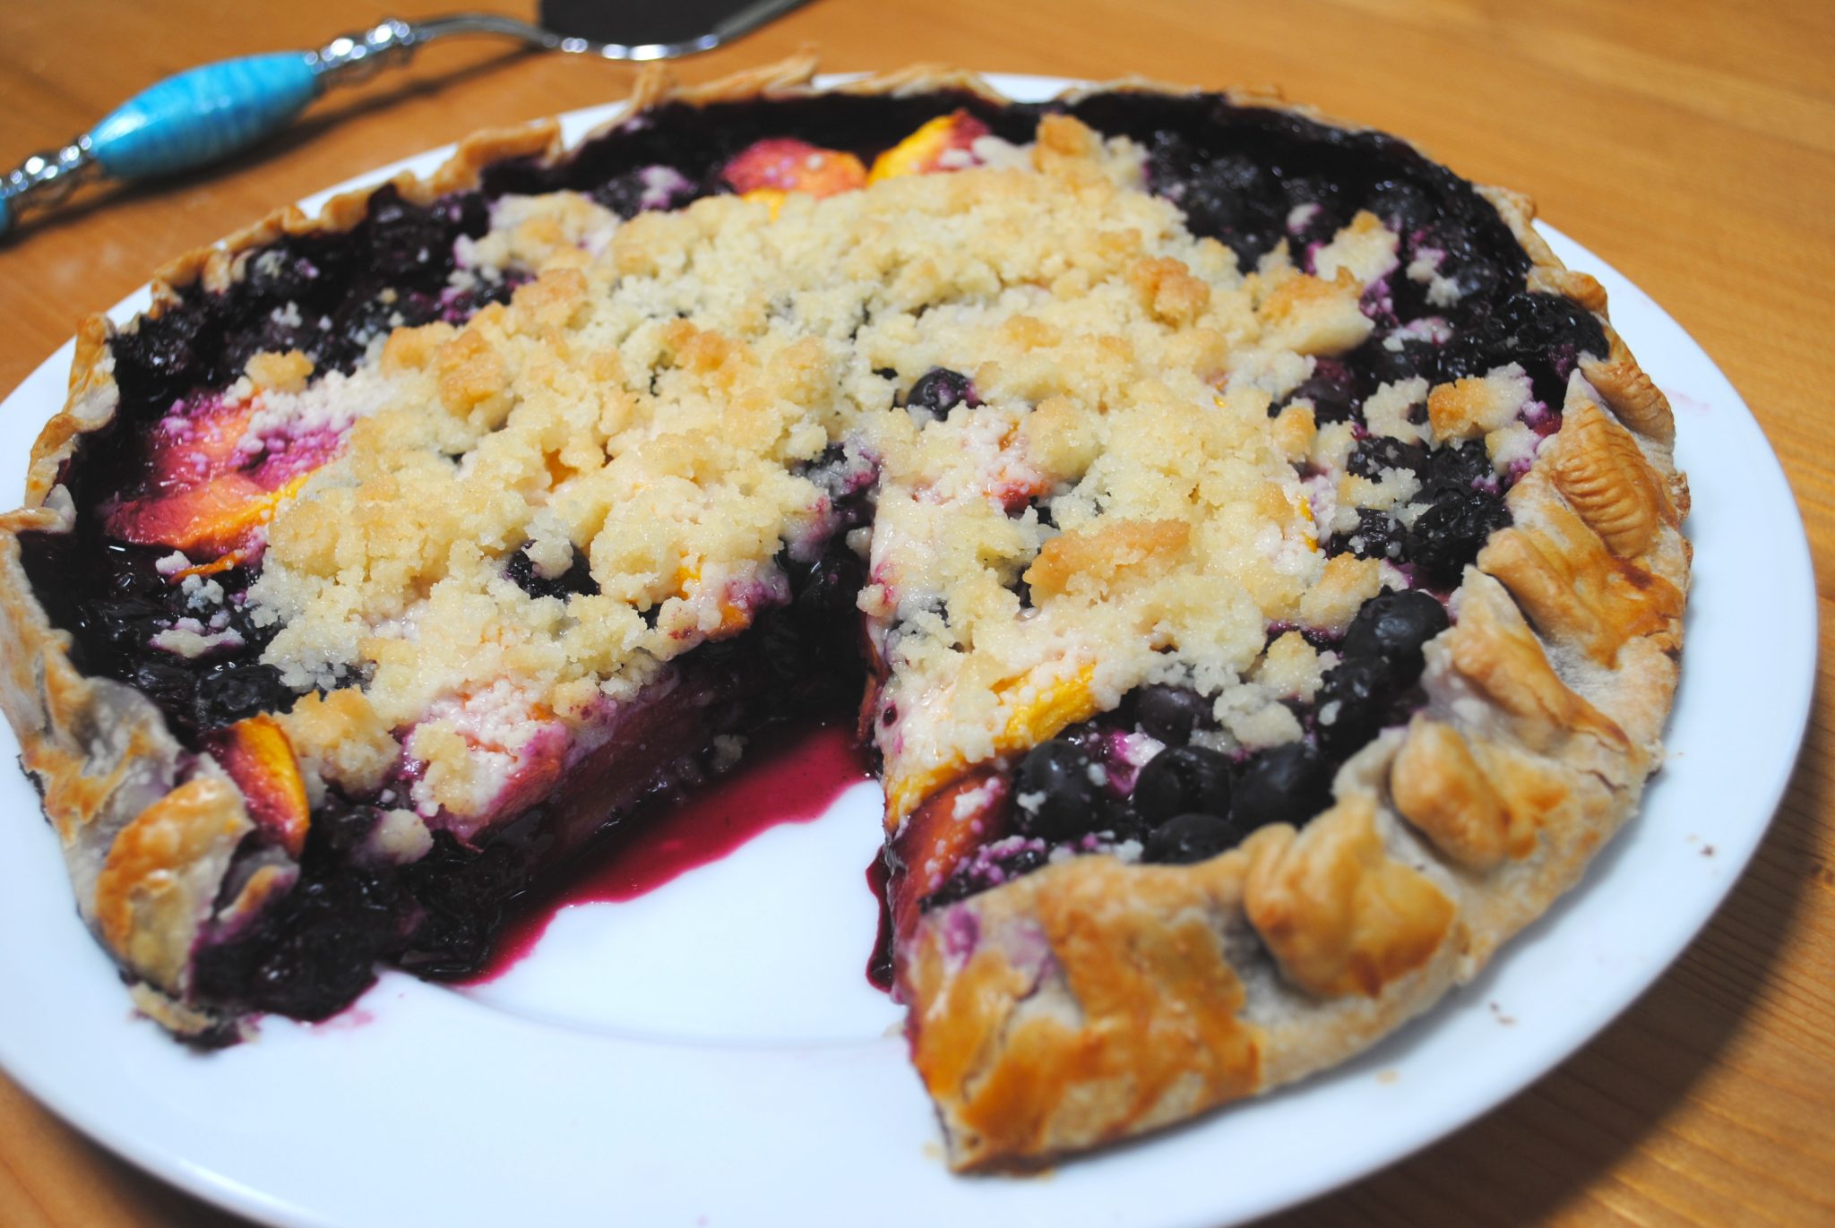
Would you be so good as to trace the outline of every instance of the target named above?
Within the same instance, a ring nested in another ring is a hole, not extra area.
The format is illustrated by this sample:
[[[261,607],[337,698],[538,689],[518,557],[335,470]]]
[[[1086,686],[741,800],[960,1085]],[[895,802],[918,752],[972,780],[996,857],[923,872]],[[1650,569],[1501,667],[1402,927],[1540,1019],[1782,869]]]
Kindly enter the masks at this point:
[[[202,261],[106,340],[112,415],[59,463],[62,519],[17,532],[70,663],[169,731],[94,920],[176,1032],[321,1019],[378,964],[472,973],[596,835],[668,822],[767,725],[846,714],[952,1155],[1048,1155],[1262,1077],[1228,967],[1173,1011],[1228,1026],[1167,1070],[1090,1057],[1092,1087],[1158,1088],[1127,1111],[987,1074],[987,1037],[1046,1015],[1121,1026],[1079,925],[1151,896],[1162,929],[1112,934],[1129,975],[1222,942],[1251,988],[1376,999],[1451,905],[1345,782],[1396,756],[1393,804],[1492,866],[1527,855],[1529,795],[1486,791],[1503,760],[1448,712],[1626,740],[1490,576],[1602,668],[1679,619],[1624,562],[1685,549],[1675,486],[1589,384],[1631,404],[1635,365],[1518,206],[1406,143],[1217,95],[932,86],[661,101],[565,156],[495,152]],[[1547,496],[1512,497],[1545,463],[1598,591]],[[1466,690],[1429,694],[1455,657]],[[1374,894],[1345,918],[1396,932],[1296,931],[1262,890],[1352,866]],[[1028,1006],[1066,977],[1073,1008]]]

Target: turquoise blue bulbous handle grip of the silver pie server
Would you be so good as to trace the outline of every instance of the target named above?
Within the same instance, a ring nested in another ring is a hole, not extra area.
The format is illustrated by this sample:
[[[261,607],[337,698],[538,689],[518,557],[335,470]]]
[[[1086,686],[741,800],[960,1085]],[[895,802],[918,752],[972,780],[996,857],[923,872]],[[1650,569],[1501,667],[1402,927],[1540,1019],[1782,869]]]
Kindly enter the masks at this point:
[[[117,106],[90,128],[90,152],[121,180],[191,171],[279,132],[317,94],[306,51],[206,64]]]

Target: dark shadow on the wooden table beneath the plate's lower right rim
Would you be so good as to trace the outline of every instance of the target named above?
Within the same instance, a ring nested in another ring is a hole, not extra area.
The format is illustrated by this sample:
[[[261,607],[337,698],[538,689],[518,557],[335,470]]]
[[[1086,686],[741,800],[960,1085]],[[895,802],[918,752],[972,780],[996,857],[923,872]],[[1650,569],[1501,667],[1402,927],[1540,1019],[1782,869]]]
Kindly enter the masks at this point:
[[[1813,710],[1820,710],[1817,687]],[[1782,969],[1817,872],[1804,848],[1829,802],[1811,723],[1791,786],[1741,879],[1690,949],[1602,1032],[1503,1107],[1451,1138],[1259,1228],[1446,1222],[1543,1224],[1644,1145],[1747,1022]],[[1380,1129],[1380,1123],[1373,1123]]]

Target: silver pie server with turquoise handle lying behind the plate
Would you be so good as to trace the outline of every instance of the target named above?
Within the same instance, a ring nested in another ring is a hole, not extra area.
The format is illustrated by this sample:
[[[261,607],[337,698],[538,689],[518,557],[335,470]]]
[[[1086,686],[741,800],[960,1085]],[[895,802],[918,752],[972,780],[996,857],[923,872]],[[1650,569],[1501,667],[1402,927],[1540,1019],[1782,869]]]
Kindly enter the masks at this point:
[[[328,86],[367,81],[380,68],[413,59],[435,39],[499,35],[541,51],[609,61],[668,61],[714,48],[763,26],[806,0],[749,0],[738,7],[686,4],[677,17],[706,15],[703,29],[657,42],[613,42],[629,20],[655,20],[644,6],[618,11],[600,0],[539,0],[539,24],[501,13],[453,13],[420,22],[387,18],[332,39],[317,51],[275,51],[204,64],[167,77],[121,103],[106,119],[62,149],[33,154],[0,176],[0,235],[29,209],[62,200],[88,180],[147,180],[209,165],[273,136]],[[695,13],[699,9],[701,13]]]

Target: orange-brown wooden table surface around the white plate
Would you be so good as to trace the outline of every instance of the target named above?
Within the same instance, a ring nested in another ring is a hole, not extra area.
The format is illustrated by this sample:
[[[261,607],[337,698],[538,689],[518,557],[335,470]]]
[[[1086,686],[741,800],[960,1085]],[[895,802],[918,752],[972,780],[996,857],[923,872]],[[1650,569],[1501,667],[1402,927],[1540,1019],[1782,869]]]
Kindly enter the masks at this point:
[[[0,162],[61,143],[200,59],[317,46],[373,22],[374,6],[0,6]],[[411,0],[391,13],[444,7]],[[1402,132],[1470,178],[1532,193],[1545,218],[1648,290],[1732,378],[1784,459],[1818,573],[1829,575],[1826,0],[815,0],[732,50],[679,64],[679,75],[723,75],[806,42],[833,70],[921,59],[1273,83]],[[290,136],[226,169],[83,196],[0,244],[0,389],[172,253],[475,127],[617,99],[631,75],[499,44],[437,46],[407,72],[321,101]],[[1826,613],[1826,584],[1818,600]],[[1446,1142],[1275,1222],[1835,1222],[1835,740],[1828,677],[1818,681],[1802,762],[1756,861],[1637,1006]],[[0,1010],[17,1010],[4,989]],[[0,1224],[235,1222],[106,1155],[0,1077]]]

